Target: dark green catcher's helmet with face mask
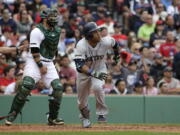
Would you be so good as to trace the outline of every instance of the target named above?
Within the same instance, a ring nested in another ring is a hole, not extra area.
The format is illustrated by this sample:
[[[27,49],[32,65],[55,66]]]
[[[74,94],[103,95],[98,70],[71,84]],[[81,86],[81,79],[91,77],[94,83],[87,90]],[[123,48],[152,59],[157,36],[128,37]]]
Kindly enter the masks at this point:
[[[40,13],[41,18],[42,19],[46,18],[48,25],[51,27],[54,27],[57,24],[58,22],[57,15],[58,15],[57,10],[50,8],[46,8]]]

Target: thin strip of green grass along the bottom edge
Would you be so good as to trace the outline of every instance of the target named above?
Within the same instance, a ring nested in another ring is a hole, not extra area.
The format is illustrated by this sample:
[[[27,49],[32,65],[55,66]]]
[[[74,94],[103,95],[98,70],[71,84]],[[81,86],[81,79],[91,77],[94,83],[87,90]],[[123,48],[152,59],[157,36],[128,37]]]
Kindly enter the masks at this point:
[[[141,131],[126,131],[126,132],[24,132],[24,133],[1,133],[0,135],[180,135],[180,133],[159,133],[159,132],[141,132]]]

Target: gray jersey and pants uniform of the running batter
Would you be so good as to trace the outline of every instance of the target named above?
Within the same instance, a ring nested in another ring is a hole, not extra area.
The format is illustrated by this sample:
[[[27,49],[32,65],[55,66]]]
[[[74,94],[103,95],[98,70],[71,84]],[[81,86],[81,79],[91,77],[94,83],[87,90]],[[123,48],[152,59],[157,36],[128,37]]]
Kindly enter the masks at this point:
[[[106,53],[114,45],[115,40],[112,37],[104,37],[96,45],[96,47],[93,48],[89,45],[88,41],[83,38],[76,45],[75,59],[84,59],[86,61],[86,65],[94,71],[107,72],[105,64]],[[96,114],[106,115],[108,113],[108,109],[104,101],[103,84],[104,81],[83,73],[78,73],[77,92],[80,109],[88,106],[88,96],[90,91],[93,90],[96,97]]]

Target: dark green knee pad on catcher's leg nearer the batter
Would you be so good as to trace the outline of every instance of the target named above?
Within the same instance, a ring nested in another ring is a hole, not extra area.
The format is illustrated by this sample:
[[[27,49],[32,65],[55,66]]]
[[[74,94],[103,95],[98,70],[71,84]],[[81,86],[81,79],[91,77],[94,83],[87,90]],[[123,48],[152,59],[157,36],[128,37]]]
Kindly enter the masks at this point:
[[[61,85],[60,80],[53,80],[51,82],[51,86],[53,88],[52,96],[57,100],[61,99],[63,93],[63,86]]]

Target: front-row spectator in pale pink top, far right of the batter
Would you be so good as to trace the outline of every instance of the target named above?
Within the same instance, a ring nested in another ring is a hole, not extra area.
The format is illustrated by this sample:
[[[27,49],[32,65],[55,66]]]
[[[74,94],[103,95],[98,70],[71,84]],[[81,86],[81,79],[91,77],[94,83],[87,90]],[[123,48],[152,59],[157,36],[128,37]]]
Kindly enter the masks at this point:
[[[146,80],[145,87],[143,88],[143,94],[150,96],[158,95],[158,89],[154,85],[155,85],[154,78],[148,77]]]

